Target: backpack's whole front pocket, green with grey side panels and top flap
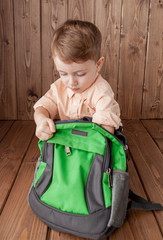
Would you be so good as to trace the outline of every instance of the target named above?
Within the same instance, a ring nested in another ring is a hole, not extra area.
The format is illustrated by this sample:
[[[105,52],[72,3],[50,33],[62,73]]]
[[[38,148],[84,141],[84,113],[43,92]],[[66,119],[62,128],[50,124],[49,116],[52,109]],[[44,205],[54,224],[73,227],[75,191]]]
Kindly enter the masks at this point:
[[[50,144],[54,146],[53,155],[49,152]],[[47,166],[36,183],[40,200],[68,213],[88,215],[104,209],[101,182],[105,152],[105,138],[92,129],[58,130],[43,147],[42,156],[48,159],[44,158]]]

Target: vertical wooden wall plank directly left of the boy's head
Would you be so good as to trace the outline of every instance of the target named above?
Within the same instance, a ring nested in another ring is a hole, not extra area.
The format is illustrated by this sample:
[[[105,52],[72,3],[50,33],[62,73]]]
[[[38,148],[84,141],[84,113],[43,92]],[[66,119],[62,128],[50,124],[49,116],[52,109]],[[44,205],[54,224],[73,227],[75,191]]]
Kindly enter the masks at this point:
[[[51,54],[51,41],[54,30],[67,20],[67,0],[41,1],[42,22],[42,94],[58,77]]]

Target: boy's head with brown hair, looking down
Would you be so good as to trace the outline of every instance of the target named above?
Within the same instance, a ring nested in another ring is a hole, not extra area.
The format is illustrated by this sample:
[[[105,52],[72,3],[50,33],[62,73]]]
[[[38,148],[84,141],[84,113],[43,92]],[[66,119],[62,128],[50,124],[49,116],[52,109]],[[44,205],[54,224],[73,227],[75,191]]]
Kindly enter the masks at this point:
[[[95,81],[104,58],[101,33],[90,22],[68,20],[54,34],[52,55],[67,88],[82,93]]]

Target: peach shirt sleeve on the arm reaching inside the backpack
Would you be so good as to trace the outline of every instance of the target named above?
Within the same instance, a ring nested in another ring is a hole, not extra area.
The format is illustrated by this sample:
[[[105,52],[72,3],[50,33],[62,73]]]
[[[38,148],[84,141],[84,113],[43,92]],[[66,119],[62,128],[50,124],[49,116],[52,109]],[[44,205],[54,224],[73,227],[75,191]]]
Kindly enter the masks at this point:
[[[120,108],[119,104],[114,99],[114,93],[110,87],[98,96],[96,102],[96,112],[92,117],[92,121],[98,123],[99,125],[108,125],[118,129],[122,126],[120,119]]]

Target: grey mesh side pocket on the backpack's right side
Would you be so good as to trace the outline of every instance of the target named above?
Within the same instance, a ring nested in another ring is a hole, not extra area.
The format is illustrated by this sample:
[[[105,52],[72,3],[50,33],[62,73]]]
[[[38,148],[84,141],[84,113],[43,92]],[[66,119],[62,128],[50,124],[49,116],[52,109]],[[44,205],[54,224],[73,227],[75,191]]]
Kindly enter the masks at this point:
[[[129,193],[129,173],[114,169],[112,176],[112,206],[108,227],[120,227],[126,216]]]

